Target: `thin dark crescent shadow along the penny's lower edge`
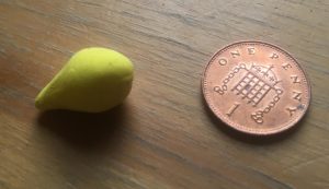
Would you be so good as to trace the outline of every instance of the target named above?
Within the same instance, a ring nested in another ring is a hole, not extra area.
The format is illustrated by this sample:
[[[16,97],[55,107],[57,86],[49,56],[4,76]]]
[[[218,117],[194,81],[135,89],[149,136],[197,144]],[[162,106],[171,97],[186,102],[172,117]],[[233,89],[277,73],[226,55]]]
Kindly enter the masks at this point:
[[[302,125],[305,123],[306,117],[308,115],[308,111],[307,111],[306,115],[303,117],[303,119],[299,122],[297,122],[296,126],[294,126],[294,127],[292,127],[292,128],[290,128],[290,129],[287,129],[283,132],[275,133],[275,134],[270,134],[270,135],[253,135],[253,134],[248,134],[248,133],[235,130],[234,128],[231,128],[231,127],[227,126],[226,123],[224,123],[207,107],[207,104],[206,104],[203,96],[202,96],[202,101],[203,101],[204,107],[206,109],[206,114],[211,118],[211,121],[220,131],[223,131],[224,133],[226,133],[230,138],[234,138],[234,139],[239,140],[241,142],[245,142],[245,143],[254,144],[254,145],[266,145],[266,144],[274,144],[274,143],[283,142],[284,140],[288,139],[294,133],[296,133],[297,130],[300,129]]]

